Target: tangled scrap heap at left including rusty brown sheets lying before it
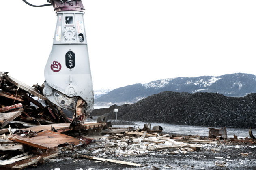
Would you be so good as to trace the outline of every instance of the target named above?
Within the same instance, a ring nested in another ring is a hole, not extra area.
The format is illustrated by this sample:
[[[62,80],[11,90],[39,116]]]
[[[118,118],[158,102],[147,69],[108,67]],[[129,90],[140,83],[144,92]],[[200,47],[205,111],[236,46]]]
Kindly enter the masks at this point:
[[[71,126],[71,121],[43,96],[41,86],[0,72],[0,169],[42,163],[58,156],[57,147],[87,145],[92,140],[85,136],[107,128],[107,123]]]

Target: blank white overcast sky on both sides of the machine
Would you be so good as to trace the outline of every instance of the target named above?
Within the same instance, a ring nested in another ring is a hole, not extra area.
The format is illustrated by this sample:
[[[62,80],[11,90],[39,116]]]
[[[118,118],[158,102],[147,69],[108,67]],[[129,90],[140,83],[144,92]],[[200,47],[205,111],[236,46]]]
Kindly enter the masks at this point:
[[[82,2],[94,89],[171,77],[256,74],[255,0]],[[0,71],[41,85],[56,14],[52,6],[33,8],[22,0],[4,6]]]

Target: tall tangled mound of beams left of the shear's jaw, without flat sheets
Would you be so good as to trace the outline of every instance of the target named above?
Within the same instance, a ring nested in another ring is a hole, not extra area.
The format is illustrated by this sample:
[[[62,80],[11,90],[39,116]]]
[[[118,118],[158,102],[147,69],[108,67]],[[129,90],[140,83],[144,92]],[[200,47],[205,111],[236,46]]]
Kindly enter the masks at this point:
[[[24,122],[34,125],[71,122],[60,107],[43,96],[41,86],[29,87],[6,72],[0,72],[0,113],[0,128],[10,121],[18,127],[26,127]]]

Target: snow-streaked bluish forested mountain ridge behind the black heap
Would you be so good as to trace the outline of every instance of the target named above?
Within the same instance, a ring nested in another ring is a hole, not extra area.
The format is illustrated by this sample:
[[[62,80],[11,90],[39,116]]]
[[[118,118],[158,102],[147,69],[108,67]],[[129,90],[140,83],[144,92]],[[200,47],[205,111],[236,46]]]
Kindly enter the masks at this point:
[[[95,100],[98,105],[104,103],[134,103],[149,95],[162,91],[176,92],[217,92],[226,96],[245,96],[256,93],[256,76],[235,73],[222,76],[176,77],[151,81],[146,84],[134,84],[114,89]]]

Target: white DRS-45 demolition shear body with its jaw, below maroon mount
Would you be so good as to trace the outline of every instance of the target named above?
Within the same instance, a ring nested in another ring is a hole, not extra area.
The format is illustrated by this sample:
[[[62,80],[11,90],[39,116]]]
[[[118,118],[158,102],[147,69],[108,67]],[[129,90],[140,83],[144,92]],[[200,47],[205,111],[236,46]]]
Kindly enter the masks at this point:
[[[94,108],[93,83],[83,15],[80,11],[57,12],[43,94],[67,110],[75,110],[77,100],[82,98],[86,102],[84,110],[90,114]]]

